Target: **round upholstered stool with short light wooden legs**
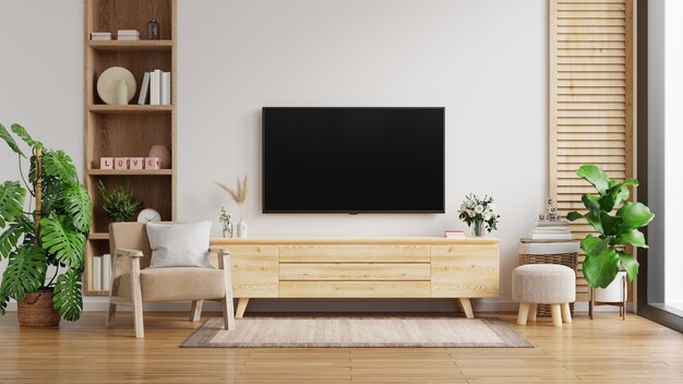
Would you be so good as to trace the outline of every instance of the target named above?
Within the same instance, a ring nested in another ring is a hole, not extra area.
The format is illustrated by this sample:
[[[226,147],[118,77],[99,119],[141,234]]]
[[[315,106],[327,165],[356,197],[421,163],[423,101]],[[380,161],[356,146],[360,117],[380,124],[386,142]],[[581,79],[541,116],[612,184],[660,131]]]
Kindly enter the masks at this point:
[[[550,304],[552,323],[571,323],[570,303],[576,301],[576,274],[559,264],[527,264],[513,271],[513,300],[519,302],[517,324],[536,320],[536,305]]]

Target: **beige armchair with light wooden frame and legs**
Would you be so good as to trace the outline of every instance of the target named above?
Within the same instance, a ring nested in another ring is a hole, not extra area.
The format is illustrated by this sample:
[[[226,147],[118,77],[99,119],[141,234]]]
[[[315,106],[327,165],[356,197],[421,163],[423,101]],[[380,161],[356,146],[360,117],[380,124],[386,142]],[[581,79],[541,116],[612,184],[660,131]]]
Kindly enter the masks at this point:
[[[204,300],[220,301],[226,329],[235,329],[230,256],[218,254],[218,269],[201,267],[147,268],[152,256],[145,225],[115,223],[109,226],[111,289],[106,325],[113,326],[117,305],[133,308],[135,337],[144,337],[143,303],[192,301],[191,321],[199,321]]]

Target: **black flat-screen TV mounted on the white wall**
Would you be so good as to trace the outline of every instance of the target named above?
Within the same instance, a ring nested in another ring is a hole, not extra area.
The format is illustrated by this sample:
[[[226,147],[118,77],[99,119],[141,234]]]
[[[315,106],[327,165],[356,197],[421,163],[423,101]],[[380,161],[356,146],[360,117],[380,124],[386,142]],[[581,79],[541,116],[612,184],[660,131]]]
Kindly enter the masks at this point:
[[[263,213],[444,213],[444,108],[263,108]]]

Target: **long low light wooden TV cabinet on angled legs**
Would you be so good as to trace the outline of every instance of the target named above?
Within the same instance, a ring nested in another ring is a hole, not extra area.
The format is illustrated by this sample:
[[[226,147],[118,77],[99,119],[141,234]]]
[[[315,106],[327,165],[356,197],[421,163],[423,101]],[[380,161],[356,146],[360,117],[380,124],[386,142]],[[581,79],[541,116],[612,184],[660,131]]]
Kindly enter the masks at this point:
[[[499,296],[493,238],[212,239],[227,248],[242,317],[252,298],[454,298]]]

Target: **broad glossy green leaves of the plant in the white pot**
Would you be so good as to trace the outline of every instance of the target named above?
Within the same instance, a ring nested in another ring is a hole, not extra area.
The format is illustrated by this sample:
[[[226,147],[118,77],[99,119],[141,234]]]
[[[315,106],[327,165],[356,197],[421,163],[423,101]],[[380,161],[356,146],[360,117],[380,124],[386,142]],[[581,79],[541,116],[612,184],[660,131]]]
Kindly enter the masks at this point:
[[[571,221],[585,219],[599,233],[588,235],[582,240],[586,253],[584,277],[594,288],[606,288],[620,271],[626,271],[628,280],[638,275],[638,262],[624,251],[625,245],[648,248],[645,236],[638,228],[647,226],[655,214],[643,203],[628,202],[628,187],[638,185],[638,180],[618,181],[610,179],[598,166],[584,165],[576,175],[591,183],[598,194],[586,193],[582,201],[588,209],[585,214],[571,212]],[[614,214],[612,212],[616,209]]]

